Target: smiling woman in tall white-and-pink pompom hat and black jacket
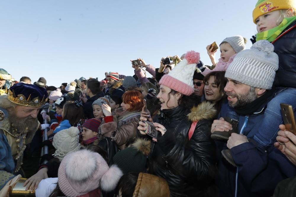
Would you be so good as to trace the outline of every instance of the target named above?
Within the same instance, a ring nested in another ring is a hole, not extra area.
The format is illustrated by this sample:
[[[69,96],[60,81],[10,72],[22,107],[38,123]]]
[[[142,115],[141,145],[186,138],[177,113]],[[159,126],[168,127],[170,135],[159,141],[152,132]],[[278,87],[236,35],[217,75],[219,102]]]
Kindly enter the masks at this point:
[[[171,196],[214,196],[215,145],[210,126],[216,115],[214,104],[200,103],[194,95],[193,73],[199,53],[189,51],[185,58],[159,84],[157,98],[164,118],[153,123],[159,131],[153,139],[149,173],[165,178]],[[143,108],[144,109],[144,108]],[[139,135],[147,136],[147,112],[141,113]]]

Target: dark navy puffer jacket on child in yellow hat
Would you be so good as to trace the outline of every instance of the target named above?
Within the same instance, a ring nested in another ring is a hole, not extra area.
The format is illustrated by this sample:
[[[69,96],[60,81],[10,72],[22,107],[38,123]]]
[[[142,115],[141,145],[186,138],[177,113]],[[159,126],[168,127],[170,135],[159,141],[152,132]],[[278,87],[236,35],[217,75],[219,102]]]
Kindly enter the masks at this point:
[[[274,45],[274,52],[279,56],[279,70],[276,71],[274,85],[276,87],[294,87],[296,88],[296,25],[293,22],[286,30],[279,35]]]

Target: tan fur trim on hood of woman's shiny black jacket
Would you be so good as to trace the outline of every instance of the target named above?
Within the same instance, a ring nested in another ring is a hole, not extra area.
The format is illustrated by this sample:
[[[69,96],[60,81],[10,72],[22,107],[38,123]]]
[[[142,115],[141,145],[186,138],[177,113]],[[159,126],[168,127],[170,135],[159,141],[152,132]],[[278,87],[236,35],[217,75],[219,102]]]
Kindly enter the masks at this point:
[[[191,109],[191,112],[187,115],[188,119],[192,122],[197,122],[204,119],[211,120],[215,118],[217,110],[215,109],[214,105],[215,104],[209,101],[200,103]]]

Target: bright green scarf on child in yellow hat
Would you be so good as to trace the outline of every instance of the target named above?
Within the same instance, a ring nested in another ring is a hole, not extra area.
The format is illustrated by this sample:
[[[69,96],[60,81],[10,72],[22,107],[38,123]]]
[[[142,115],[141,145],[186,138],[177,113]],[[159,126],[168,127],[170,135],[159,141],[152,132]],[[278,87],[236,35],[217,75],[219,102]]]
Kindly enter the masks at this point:
[[[296,20],[296,16],[284,18],[284,20],[279,24],[279,26],[273,29],[257,33],[256,41],[258,40],[268,40],[269,42],[274,41],[292,22]]]

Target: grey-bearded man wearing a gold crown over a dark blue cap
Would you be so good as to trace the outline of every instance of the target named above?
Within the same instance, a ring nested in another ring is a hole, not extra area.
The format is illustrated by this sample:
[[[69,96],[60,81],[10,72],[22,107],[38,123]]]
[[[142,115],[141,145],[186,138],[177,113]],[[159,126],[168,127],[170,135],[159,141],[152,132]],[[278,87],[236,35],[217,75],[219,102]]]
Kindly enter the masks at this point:
[[[24,83],[15,84],[7,95],[0,96],[0,196],[16,188],[24,191],[25,179],[17,172],[26,145],[40,126],[37,115],[46,101],[46,89]],[[28,193],[30,190],[25,195]]]

